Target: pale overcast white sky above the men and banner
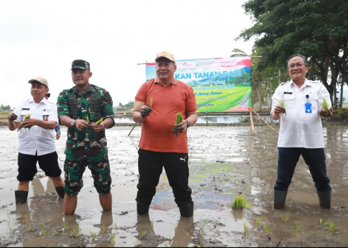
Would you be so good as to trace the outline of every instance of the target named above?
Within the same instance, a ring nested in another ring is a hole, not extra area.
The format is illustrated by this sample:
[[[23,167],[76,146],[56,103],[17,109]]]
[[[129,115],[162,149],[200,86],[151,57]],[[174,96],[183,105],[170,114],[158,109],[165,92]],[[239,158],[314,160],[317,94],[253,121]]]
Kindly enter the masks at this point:
[[[252,26],[246,0],[14,0],[0,2],[0,104],[30,96],[28,80],[47,78],[50,101],[74,86],[71,62],[90,62],[90,83],[105,88],[114,106],[134,100],[145,65],[162,50],[175,60],[251,54],[234,39]]]

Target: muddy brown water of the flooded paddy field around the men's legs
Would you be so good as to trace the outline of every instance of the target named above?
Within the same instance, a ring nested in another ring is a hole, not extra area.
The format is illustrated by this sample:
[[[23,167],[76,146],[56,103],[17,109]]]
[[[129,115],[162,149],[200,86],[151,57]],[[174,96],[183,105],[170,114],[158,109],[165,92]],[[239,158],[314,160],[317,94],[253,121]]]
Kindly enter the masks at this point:
[[[165,173],[149,215],[137,216],[136,147],[140,126],[128,136],[130,129],[113,127],[106,133],[112,168],[112,211],[101,211],[87,169],[76,214],[64,216],[63,200],[40,169],[30,183],[27,203],[15,205],[17,133],[0,127],[0,246],[348,246],[347,126],[324,127],[327,170],[333,187],[330,210],[318,206],[314,183],[302,158],[289,187],[285,209],[273,210],[277,134],[269,127],[255,127],[253,136],[249,127],[190,127],[193,218],[180,218]],[[56,142],[61,168],[65,133],[62,128],[62,136]],[[244,196],[251,206],[232,210],[237,195]],[[287,217],[286,222],[282,217]],[[325,222],[333,223],[332,232]]]

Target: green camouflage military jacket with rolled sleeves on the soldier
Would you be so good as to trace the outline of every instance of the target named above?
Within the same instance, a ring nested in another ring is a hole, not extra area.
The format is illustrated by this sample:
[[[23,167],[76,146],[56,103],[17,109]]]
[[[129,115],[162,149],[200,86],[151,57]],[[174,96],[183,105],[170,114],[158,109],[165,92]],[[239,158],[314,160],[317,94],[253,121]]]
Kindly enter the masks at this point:
[[[100,118],[104,118],[111,120],[110,127],[115,124],[109,92],[92,84],[88,85],[85,93],[79,92],[76,86],[63,90],[58,96],[57,106],[59,120],[62,116],[89,120],[89,122],[96,122]],[[88,154],[91,150],[107,152],[105,129],[93,132],[91,128],[79,131],[75,126],[69,127],[64,153],[81,156]]]

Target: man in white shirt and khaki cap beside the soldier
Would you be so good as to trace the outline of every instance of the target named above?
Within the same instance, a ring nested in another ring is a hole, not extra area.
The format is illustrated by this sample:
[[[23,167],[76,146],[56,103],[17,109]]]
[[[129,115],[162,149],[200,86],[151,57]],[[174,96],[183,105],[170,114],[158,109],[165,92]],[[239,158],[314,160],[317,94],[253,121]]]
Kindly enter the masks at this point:
[[[58,124],[57,106],[45,99],[48,82],[43,77],[28,81],[32,98],[22,101],[8,113],[8,129],[18,130],[18,190],[16,204],[27,201],[29,182],[37,173],[36,163],[53,181],[57,193],[64,197],[64,181],[58,166],[53,129]]]

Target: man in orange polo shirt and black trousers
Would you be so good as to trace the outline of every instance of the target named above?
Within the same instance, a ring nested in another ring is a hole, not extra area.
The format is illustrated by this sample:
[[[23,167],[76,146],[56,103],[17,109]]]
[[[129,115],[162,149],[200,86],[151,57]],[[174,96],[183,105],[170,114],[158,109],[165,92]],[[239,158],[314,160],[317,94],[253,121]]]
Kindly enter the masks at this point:
[[[197,104],[191,86],[174,78],[173,54],[156,56],[156,74],[141,85],[135,96],[133,120],[142,124],[139,142],[139,182],[137,213],[147,214],[165,168],[176,205],[183,217],[193,216],[191,188],[188,186],[188,149],[186,131],[197,121]],[[183,120],[174,126],[176,114]],[[176,134],[176,135],[175,135]]]

